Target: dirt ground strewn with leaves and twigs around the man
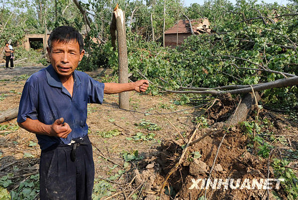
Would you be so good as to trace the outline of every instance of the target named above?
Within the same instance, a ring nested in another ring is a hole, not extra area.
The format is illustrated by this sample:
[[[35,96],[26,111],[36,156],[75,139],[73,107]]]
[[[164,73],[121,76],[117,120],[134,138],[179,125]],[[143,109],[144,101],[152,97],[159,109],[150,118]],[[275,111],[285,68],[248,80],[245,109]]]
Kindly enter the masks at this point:
[[[25,80],[41,68],[0,68],[0,111],[18,106]],[[100,68],[87,73],[101,81],[111,71]],[[93,144],[96,178],[93,199],[158,199],[161,185],[179,160],[183,152],[181,147],[193,134],[196,123],[200,122],[200,131],[193,140],[204,135],[204,130],[215,121],[231,115],[238,98],[230,100],[235,102],[229,106],[224,106],[222,102],[221,105],[228,109],[221,109],[224,111],[221,114],[219,102],[205,113],[212,101],[207,101],[207,104],[204,101],[204,106],[198,106],[176,105],[176,100],[179,100],[177,95],[152,96],[130,92],[129,111],[118,109],[118,95],[105,95],[102,105],[88,104],[87,125]],[[206,118],[202,118],[203,114]],[[274,151],[276,156],[288,159],[292,156],[291,166],[297,168],[297,124],[287,120],[283,114],[265,109],[259,116],[270,124],[264,125],[262,130],[267,129],[268,133],[277,135],[271,143],[278,149]],[[252,116],[250,121],[253,120]],[[182,164],[170,176],[165,190],[162,190],[161,199],[197,200],[204,196],[205,190],[189,188],[193,184],[192,179],[208,178],[223,135],[224,132],[207,136],[189,148]],[[18,190],[21,182],[38,173],[40,149],[36,142],[34,134],[17,127],[16,119],[0,124],[0,177],[9,173],[14,175],[12,184],[7,187],[8,191]],[[229,130],[211,177],[266,178],[267,159],[255,155],[252,148],[248,147],[249,142],[241,126]],[[294,154],[289,155],[290,150]],[[293,157],[296,154],[297,157]],[[272,167],[269,172],[269,177],[275,178]],[[271,192],[269,199],[274,199]],[[286,197],[283,187],[275,192],[282,198]],[[265,200],[265,193],[266,190],[208,189],[207,197],[214,200]],[[38,199],[38,193],[34,199]]]

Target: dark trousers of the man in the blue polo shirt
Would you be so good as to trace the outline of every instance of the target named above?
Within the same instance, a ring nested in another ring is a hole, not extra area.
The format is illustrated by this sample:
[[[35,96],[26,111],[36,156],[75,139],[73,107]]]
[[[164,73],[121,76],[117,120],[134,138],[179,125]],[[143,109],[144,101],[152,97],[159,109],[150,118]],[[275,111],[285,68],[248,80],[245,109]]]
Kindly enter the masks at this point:
[[[89,141],[87,136],[84,140]],[[90,141],[89,141],[90,142]],[[94,184],[94,162],[91,143],[75,149],[73,145],[57,144],[41,151],[40,200],[91,200]]]

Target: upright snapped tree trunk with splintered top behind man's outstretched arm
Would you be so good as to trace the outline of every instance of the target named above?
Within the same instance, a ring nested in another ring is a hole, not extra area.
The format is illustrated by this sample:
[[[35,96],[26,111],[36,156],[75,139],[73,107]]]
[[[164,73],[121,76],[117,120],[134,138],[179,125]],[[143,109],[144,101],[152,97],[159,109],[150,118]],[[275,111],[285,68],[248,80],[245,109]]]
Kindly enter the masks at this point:
[[[118,75],[119,83],[128,82],[128,59],[127,59],[127,45],[126,45],[126,27],[125,16],[123,11],[116,5],[112,23],[110,25],[110,32],[112,38],[112,46],[116,49],[116,30],[117,30],[117,47],[118,47]],[[129,109],[129,93],[119,93],[119,108]]]

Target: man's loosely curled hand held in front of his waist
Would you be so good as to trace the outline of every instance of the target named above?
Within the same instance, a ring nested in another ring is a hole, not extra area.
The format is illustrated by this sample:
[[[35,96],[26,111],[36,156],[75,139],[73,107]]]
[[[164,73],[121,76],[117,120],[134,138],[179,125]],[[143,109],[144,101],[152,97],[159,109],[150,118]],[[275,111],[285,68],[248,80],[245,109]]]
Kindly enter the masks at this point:
[[[71,132],[71,127],[67,123],[64,123],[63,118],[60,118],[51,125],[50,136],[66,138]]]

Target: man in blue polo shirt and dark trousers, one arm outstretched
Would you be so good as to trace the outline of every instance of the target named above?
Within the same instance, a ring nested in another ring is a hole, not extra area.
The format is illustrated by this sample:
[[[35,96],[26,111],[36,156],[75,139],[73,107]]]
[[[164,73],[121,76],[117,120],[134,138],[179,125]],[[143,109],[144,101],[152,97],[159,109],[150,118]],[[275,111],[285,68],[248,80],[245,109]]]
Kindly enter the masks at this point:
[[[42,150],[40,199],[91,200],[94,163],[87,103],[101,104],[104,94],[144,92],[149,82],[100,83],[76,71],[85,51],[83,38],[73,27],[56,28],[48,46],[51,65],[26,81],[17,122],[36,134]]]

